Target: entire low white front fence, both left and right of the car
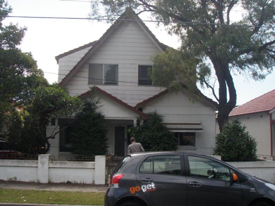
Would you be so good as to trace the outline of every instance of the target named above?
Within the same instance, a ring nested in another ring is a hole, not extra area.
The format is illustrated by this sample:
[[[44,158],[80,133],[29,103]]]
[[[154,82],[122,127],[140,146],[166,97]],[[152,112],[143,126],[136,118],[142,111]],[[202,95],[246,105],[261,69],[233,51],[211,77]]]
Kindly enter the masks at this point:
[[[105,184],[106,159],[95,162],[50,161],[50,155],[35,160],[0,160],[0,179],[40,183],[70,181],[83,184]],[[220,159],[220,156],[215,156]],[[275,183],[275,161],[228,162],[252,176]]]

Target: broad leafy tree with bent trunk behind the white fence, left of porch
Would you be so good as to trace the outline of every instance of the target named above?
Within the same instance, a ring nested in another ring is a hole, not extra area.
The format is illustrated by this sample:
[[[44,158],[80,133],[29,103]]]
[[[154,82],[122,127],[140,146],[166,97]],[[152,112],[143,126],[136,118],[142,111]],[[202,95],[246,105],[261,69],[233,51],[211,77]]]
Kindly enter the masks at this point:
[[[70,96],[68,91],[58,84],[33,88],[29,91],[28,98],[22,100],[19,109],[8,112],[8,129],[1,139],[20,152],[44,154],[50,148],[48,139],[54,139],[60,132],[46,133],[51,119],[61,116],[70,119],[73,113],[81,108],[81,103],[80,98]]]

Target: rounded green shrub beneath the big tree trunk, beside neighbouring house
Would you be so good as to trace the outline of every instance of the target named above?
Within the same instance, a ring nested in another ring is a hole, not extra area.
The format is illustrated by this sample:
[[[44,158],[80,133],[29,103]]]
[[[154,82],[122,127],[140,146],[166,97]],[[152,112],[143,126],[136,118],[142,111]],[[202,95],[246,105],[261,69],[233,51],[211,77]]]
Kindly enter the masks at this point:
[[[223,161],[256,161],[257,142],[241,126],[240,120],[225,124],[223,131],[216,135],[214,155],[221,155]]]

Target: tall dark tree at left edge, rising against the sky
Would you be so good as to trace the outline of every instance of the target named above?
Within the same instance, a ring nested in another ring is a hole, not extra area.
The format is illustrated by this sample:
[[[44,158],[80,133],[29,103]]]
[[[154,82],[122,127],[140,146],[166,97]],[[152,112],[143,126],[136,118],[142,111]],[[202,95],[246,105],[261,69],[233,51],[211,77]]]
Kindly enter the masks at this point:
[[[3,26],[3,16],[11,13],[8,4],[0,0],[0,127],[5,123],[7,112],[27,98],[31,88],[47,85],[31,53],[22,52],[20,45],[26,28],[10,23]]]

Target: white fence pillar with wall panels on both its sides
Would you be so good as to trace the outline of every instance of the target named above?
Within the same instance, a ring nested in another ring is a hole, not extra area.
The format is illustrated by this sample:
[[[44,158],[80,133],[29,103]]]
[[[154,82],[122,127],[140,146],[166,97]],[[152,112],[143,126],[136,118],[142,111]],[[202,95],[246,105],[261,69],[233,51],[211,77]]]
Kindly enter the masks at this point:
[[[49,183],[50,155],[38,155],[38,179],[40,183]]]

